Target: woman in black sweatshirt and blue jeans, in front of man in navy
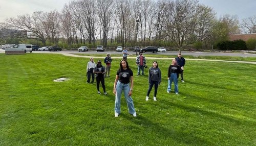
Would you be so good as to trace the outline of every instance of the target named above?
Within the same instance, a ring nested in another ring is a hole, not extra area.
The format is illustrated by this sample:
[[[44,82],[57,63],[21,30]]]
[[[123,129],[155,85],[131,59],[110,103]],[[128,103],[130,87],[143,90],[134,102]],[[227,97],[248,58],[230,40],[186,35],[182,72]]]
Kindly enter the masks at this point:
[[[175,93],[178,94],[178,75],[181,72],[181,67],[177,64],[176,59],[173,59],[172,64],[168,68],[168,87],[167,93],[170,92],[172,88],[172,82],[174,82]]]

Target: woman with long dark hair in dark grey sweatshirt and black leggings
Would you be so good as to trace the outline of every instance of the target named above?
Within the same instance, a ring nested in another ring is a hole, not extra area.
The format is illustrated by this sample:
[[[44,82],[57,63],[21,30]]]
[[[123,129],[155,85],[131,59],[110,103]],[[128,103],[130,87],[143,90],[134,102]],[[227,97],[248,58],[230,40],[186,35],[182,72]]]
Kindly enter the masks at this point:
[[[150,84],[147,90],[146,94],[146,101],[148,101],[148,96],[150,95],[151,89],[153,88],[153,85],[155,85],[155,92],[154,92],[154,101],[157,101],[157,88],[161,83],[161,70],[158,68],[157,61],[153,62],[153,67],[150,67],[148,69],[148,83]]]

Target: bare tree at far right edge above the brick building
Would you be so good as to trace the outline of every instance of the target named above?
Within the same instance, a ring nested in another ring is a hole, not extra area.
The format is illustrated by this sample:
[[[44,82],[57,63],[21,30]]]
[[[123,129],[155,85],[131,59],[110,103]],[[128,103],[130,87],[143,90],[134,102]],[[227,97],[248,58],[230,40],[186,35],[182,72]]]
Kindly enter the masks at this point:
[[[243,19],[241,27],[244,33],[256,33],[256,15]]]

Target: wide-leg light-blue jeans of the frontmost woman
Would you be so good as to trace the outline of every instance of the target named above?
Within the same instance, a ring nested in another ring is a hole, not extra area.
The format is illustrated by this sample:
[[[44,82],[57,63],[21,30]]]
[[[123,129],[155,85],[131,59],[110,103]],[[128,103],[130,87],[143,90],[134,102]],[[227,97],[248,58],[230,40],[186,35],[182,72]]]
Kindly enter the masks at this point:
[[[129,96],[129,92],[130,92],[130,83],[128,84],[123,84],[119,81],[117,81],[116,83],[116,101],[115,101],[115,112],[117,113],[121,113],[121,95],[122,95],[122,91],[124,93],[124,98],[126,100],[127,106],[128,106],[128,110],[130,114],[134,114],[135,113],[135,108],[134,108],[134,104],[133,104],[133,99],[131,98],[131,96]]]

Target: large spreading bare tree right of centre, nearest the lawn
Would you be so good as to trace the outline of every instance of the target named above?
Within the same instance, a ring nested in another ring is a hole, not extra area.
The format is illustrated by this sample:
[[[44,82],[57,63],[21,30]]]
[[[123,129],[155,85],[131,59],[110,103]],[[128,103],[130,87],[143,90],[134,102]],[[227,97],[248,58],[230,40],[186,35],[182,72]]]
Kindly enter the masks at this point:
[[[210,9],[193,0],[169,1],[164,11],[164,32],[180,52],[184,46],[204,39],[209,29],[204,26],[204,20],[214,15]]]

